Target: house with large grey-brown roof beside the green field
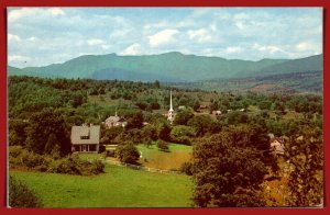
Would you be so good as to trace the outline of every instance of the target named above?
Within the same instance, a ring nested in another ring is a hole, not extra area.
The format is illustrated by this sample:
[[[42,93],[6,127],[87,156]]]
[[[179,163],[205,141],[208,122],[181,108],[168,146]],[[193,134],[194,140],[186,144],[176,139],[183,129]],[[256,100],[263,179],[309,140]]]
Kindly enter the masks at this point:
[[[98,152],[100,144],[100,126],[73,126],[72,150],[79,152]]]

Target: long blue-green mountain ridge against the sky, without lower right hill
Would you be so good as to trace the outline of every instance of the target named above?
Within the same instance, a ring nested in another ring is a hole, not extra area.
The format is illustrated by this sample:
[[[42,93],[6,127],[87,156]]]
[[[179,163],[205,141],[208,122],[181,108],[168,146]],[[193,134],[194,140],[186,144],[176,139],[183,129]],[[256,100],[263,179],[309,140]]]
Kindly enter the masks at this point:
[[[315,56],[322,60],[322,56]],[[309,58],[301,59],[309,64]],[[294,63],[293,65],[290,63]],[[299,63],[298,63],[299,64]],[[314,64],[312,64],[314,65]],[[276,68],[278,66],[278,68]],[[42,77],[62,78],[97,78],[114,79],[124,73],[127,80],[141,81],[160,79],[161,81],[197,81],[213,78],[241,78],[264,73],[272,68],[286,72],[296,67],[295,60],[288,59],[262,59],[258,61],[224,59],[220,57],[205,57],[183,55],[180,53],[166,53],[145,56],[118,56],[86,55],[70,59],[64,64],[54,64],[45,67],[28,67],[21,69],[26,73]],[[320,68],[317,65],[316,68]],[[298,68],[304,69],[301,67]],[[310,67],[308,67],[308,70]],[[9,68],[9,75],[15,73],[14,68]],[[317,70],[317,69],[314,69]],[[277,71],[275,71],[277,72]]]

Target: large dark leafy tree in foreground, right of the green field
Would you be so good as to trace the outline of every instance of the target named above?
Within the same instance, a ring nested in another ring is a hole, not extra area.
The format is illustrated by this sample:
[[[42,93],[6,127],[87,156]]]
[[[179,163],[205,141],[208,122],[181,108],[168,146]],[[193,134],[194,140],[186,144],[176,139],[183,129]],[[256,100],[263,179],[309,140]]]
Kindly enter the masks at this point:
[[[200,207],[265,206],[261,183],[267,173],[258,151],[235,147],[230,132],[196,144],[194,203]]]

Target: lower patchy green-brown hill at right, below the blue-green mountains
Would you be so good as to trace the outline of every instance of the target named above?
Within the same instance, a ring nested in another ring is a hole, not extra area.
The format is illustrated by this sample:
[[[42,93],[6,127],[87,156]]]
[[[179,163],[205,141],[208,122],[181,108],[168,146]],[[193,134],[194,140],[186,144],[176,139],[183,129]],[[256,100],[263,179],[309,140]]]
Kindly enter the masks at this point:
[[[302,71],[276,73],[250,78],[215,79],[196,82],[167,83],[183,89],[201,89],[220,92],[263,92],[263,93],[316,93],[323,92],[323,72]]]

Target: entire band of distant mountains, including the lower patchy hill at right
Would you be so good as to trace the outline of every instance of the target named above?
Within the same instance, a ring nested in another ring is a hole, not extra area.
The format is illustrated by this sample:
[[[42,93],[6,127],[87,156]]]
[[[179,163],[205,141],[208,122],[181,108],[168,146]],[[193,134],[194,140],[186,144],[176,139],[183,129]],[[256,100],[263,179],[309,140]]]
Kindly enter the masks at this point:
[[[118,79],[131,81],[183,82],[186,87],[208,90],[275,89],[320,91],[323,55],[300,59],[262,59],[258,61],[184,55],[118,56],[85,55],[64,64],[23,69],[8,66],[9,76]],[[175,83],[176,82],[176,83]],[[184,82],[187,82],[185,84]],[[258,86],[260,84],[260,86]],[[275,84],[275,86],[274,86]],[[289,84],[293,84],[292,87]]]

